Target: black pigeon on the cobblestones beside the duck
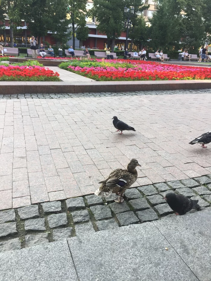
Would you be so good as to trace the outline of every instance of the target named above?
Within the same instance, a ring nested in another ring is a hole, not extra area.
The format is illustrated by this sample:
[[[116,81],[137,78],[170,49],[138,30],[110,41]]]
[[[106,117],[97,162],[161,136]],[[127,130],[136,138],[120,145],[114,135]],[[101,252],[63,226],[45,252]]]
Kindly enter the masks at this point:
[[[176,215],[184,215],[196,207],[199,200],[192,200],[183,195],[176,195],[169,192],[163,198],[167,201],[169,207],[175,211]]]

